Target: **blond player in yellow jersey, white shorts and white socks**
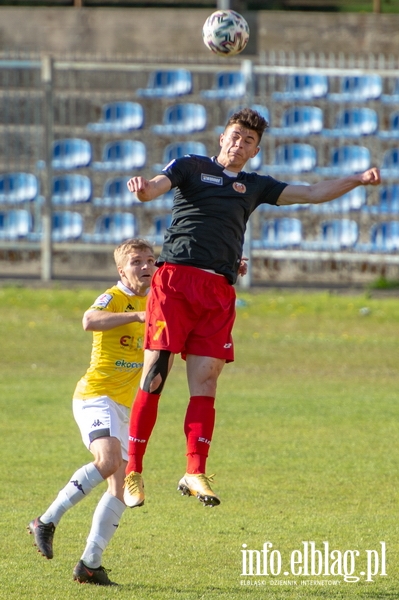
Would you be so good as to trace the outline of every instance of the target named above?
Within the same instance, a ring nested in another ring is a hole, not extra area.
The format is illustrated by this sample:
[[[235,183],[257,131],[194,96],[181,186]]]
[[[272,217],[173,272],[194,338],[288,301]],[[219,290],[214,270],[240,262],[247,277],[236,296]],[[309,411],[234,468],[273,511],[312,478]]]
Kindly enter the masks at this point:
[[[90,366],[73,396],[74,417],[94,460],[80,467],[49,508],[28,526],[38,551],[53,558],[54,531],[61,517],[107,480],[86,548],[73,571],[76,581],[97,585],[115,585],[101,566],[102,554],[126,508],[129,412],[143,367],[145,306],[155,272],[154,251],[145,240],[127,240],[116,248],[114,257],[120,281],[83,315],[83,328],[93,332],[93,346]]]

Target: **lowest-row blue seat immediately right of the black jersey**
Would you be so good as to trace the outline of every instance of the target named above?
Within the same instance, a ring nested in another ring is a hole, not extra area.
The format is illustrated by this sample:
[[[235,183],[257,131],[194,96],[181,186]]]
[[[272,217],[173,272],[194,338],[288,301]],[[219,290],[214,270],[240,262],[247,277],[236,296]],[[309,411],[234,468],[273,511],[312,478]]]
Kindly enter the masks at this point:
[[[299,246],[302,241],[302,223],[287,217],[267,219],[262,223],[260,240],[252,242],[253,248],[287,248]]]

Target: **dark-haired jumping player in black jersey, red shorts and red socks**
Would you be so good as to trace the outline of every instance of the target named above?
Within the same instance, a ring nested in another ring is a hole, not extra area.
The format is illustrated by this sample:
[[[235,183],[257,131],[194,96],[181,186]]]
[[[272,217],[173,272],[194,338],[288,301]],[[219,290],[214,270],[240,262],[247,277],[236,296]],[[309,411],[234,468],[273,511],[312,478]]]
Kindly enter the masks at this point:
[[[234,359],[231,331],[235,317],[234,284],[239,273],[244,233],[251,213],[262,203],[318,204],[359,185],[378,185],[378,169],[313,185],[289,185],[243,168],[259,152],[267,122],[251,109],[229,119],[217,157],[173,160],[151,180],[132,177],[128,189],[142,202],[175,188],[172,222],[147,304],[144,368],[129,430],[125,503],[143,498],[142,461],[155,425],[157,408],[175,354],[186,358],[190,401],[184,430],[186,474],[178,489],[206,506],[220,503],[205,474],[212,439],[218,377]]]

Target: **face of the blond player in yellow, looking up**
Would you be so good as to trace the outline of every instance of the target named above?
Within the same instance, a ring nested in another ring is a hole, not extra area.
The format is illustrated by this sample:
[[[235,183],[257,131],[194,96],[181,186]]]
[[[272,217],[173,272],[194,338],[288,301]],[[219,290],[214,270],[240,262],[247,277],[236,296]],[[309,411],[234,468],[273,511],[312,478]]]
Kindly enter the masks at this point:
[[[155,270],[155,256],[149,249],[135,250],[118,269],[122,283],[138,296],[143,296],[150,287]]]

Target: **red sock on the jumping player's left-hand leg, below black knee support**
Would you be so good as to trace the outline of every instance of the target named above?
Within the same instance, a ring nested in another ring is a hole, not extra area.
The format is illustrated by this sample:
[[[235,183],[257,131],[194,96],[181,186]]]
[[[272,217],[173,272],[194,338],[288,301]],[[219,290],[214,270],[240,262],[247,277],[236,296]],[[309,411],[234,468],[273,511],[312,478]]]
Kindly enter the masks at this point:
[[[143,471],[143,456],[157,420],[159,398],[160,394],[150,394],[141,388],[137,390],[130,413],[126,475]]]

